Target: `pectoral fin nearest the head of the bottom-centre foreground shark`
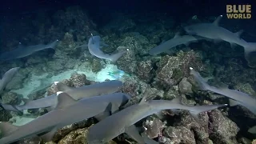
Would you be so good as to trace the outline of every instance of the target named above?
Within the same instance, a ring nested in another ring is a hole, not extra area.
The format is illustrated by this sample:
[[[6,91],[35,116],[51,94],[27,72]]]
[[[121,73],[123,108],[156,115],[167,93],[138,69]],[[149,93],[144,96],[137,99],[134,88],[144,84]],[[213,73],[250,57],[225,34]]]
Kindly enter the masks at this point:
[[[144,139],[142,136],[138,133],[138,129],[136,126],[132,125],[126,128],[125,133],[130,136],[130,138],[133,138],[136,142],[139,144],[145,144]]]

